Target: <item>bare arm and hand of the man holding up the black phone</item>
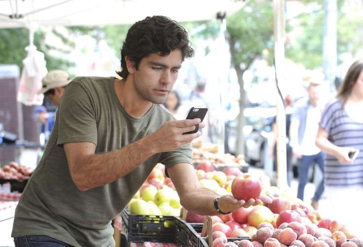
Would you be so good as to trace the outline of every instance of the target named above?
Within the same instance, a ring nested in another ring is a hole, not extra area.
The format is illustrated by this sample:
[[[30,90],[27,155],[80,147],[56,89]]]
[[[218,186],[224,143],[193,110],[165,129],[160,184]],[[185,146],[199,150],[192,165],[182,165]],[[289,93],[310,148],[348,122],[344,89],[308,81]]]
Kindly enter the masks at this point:
[[[108,184],[125,176],[151,155],[174,150],[190,143],[200,132],[182,135],[195,129],[199,119],[169,121],[155,133],[123,148],[95,154],[96,146],[90,142],[64,144],[73,182],[81,191]],[[205,126],[199,123],[200,128]]]

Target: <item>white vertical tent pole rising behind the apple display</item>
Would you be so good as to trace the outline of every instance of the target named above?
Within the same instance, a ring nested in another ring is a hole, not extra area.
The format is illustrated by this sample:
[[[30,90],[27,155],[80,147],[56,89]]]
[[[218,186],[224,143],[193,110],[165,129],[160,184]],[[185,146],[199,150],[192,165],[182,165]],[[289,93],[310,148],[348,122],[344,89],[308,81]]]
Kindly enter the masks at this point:
[[[284,61],[285,61],[285,11],[284,0],[274,0],[274,37],[275,37],[275,70],[276,85],[278,89],[285,83]],[[277,93],[276,101],[276,124],[277,124],[277,187],[286,189],[286,115],[284,99]]]

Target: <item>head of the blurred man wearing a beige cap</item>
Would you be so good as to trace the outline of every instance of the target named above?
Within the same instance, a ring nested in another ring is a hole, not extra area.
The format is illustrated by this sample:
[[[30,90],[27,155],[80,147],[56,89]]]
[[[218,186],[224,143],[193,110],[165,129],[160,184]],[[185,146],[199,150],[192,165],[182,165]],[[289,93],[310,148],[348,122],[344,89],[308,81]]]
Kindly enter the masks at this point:
[[[58,106],[66,86],[71,82],[69,74],[62,70],[50,71],[41,81],[43,87],[37,94],[44,94],[54,106]]]

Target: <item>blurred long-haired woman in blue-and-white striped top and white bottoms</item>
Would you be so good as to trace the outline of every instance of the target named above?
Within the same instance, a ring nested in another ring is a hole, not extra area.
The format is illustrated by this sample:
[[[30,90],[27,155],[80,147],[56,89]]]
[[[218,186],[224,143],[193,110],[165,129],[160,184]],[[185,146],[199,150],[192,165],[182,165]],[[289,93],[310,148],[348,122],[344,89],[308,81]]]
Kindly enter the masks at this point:
[[[332,219],[363,237],[363,60],[354,62],[325,107],[316,145],[326,153],[325,189]],[[361,150],[352,160],[348,154]],[[358,200],[354,202],[354,200]]]

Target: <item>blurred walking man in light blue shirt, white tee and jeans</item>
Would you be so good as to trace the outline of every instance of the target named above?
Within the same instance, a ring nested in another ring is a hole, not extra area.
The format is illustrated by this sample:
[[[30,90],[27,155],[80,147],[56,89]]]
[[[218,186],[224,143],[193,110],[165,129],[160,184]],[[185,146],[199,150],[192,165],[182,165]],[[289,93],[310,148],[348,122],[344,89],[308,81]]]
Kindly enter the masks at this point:
[[[324,108],[320,99],[322,80],[310,78],[308,95],[295,102],[290,122],[290,144],[292,154],[300,159],[297,167],[297,198],[304,201],[305,185],[308,182],[309,169],[317,163],[324,174],[325,154],[315,145],[321,112]],[[319,200],[324,192],[324,179],[316,187],[311,206],[319,208]]]

